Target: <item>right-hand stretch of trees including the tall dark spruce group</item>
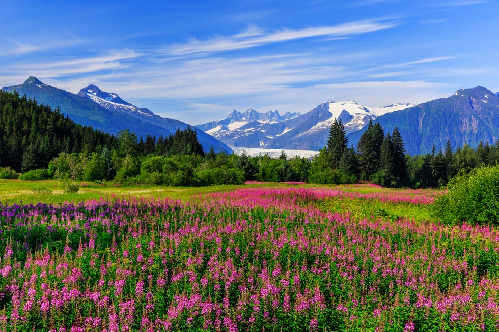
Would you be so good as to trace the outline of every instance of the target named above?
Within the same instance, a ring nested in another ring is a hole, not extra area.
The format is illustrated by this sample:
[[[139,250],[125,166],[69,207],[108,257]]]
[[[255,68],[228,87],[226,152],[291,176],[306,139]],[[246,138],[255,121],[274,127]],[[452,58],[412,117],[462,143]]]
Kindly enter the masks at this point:
[[[343,124],[335,119],[327,146],[311,161],[309,181],[355,183],[366,180],[386,187],[440,187],[458,172],[499,163],[499,142],[492,146],[480,143],[477,149],[465,145],[453,152],[448,141],[444,152],[436,153],[433,149],[431,154],[409,156],[397,128],[385,134],[379,123],[372,122],[356,148],[347,148],[347,144]]]

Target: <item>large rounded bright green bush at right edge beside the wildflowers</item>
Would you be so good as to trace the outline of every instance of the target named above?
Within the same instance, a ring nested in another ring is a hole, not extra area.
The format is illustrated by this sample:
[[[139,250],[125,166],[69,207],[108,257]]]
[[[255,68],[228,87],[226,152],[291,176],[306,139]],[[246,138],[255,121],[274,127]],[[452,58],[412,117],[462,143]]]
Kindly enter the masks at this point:
[[[499,223],[499,166],[451,179],[447,192],[435,201],[434,215],[446,223]]]

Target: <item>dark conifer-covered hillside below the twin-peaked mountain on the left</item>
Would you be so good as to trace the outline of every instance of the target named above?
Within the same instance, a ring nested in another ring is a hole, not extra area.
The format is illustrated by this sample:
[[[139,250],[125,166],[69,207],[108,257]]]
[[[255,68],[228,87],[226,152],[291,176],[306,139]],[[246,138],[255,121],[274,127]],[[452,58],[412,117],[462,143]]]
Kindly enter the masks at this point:
[[[0,91],[0,166],[45,168],[60,152],[91,152],[116,142],[110,134],[75,124],[58,109]]]

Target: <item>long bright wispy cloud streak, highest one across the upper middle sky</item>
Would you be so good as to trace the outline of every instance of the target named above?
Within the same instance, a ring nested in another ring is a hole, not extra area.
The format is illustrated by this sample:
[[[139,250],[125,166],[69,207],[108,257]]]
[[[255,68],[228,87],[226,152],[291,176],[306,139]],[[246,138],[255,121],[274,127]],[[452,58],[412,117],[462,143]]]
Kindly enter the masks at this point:
[[[240,50],[273,43],[281,43],[312,37],[345,37],[365,34],[397,26],[395,22],[363,20],[334,26],[309,27],[303,29],[285,29],[267,33],[251,27],[240,34],[216,37],[208,40],[193,39],[186,44],[178,44],[165,48],[166,55],[209,54],[216,52]]]

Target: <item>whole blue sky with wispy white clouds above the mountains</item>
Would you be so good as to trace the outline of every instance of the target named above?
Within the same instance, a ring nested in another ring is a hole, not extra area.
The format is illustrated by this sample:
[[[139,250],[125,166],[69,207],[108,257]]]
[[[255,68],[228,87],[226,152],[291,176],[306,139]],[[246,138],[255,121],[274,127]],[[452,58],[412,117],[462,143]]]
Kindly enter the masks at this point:
[[[51,1],[0,11],[0,86],[88,84],[201,124],[499,91],[497,0]]]

